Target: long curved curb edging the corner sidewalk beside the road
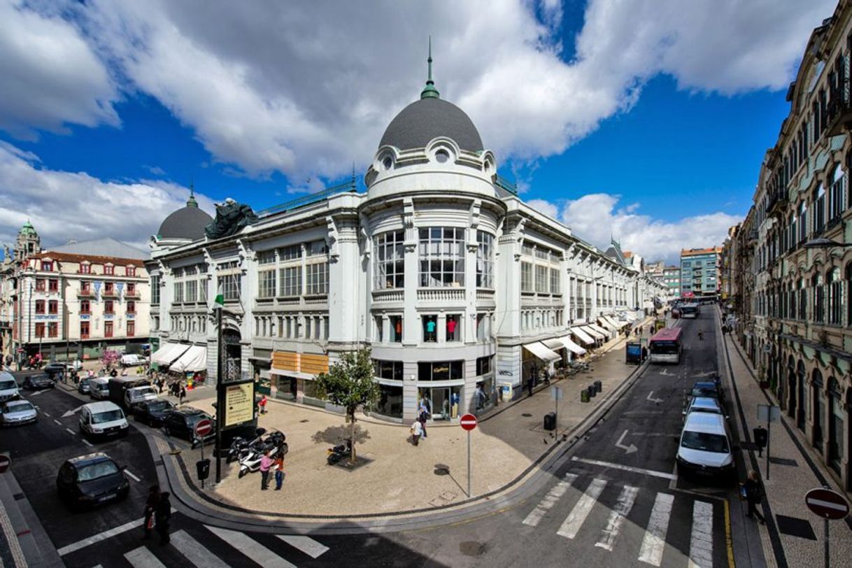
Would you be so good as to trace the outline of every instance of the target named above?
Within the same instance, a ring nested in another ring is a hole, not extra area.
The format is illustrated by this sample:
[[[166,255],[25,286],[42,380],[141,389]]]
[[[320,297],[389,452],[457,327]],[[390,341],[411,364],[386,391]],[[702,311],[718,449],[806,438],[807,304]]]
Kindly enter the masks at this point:
[[[358,515],[304,515],[286,513],[256,512],[250,509],[224,505],[212,496],[201,491],[193,482],[186,463],[180,456],[164,454],[157,445],[158,437],[148,436],[148,445],[152,451],[158,472],[160,485],[170,487],[179,510],[187,516],[210,523],[217,519],[222,526],[250,531],[273,532],[285,529],[312,534],[354,534],[361,532],[411,531],[438,525],[448,525],[463,520],[474,519],[490,513],[514,507],[532,496],[551,478],[555,471],[567,462],[567,453],[573,449],[597,422],[607,415],[619,399],[642,376],[648,368],[646,361],[630,372],[628,376],[602,399],[594,410],[570,430],[565,430],[530,466],[515,479],[502,487],[468,499],[463,502],[434,508],[420,508],[391,513],[366,513]],[[566,445],[560,445],[567,441]],[[558,450],[558,451],[557,451]],[[172,459],[173,458],[173,459]]]

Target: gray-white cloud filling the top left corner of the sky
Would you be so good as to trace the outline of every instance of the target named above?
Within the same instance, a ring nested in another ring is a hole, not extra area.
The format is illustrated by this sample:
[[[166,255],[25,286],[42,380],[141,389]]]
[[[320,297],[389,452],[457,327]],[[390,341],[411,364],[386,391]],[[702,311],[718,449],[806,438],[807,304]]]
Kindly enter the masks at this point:
[[[78,30],[0,0],[0,129],[33,138],[64,124],[118,125],[118,99],[107,69]]]

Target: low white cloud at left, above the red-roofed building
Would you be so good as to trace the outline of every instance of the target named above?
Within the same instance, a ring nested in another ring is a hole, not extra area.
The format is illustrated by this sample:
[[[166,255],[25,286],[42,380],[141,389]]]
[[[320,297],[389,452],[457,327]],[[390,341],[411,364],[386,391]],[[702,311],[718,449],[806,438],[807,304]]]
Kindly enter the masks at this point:
[[[29,219],[43,246],[112,237],[147,250],[147,238],[188,197],[186,187],[163,181],[102,181],[42,169],[32,153],[0,144],[0,242],[9,245]],[[215,210],[209,198],[196,198],[204,210]]]

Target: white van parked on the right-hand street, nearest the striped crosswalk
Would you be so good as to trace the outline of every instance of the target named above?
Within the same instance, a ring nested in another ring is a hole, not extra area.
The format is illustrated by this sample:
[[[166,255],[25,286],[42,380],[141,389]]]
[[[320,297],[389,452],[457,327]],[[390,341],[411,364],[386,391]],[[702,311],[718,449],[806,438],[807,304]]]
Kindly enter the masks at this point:
[[[721,414],[690,412],[683,424],[681,442],[677,447],[677,473],[705,477],[736,479],[734,446],[728,424]]]

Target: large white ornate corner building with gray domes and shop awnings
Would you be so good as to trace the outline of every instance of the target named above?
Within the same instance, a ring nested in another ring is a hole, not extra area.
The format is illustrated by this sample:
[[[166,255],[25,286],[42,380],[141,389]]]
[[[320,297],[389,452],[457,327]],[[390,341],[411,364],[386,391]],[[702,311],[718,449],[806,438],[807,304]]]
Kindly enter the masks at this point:
[[[148,261],[155,359],[193,370],[190,351],[205,350],[215,376],[221,290],[227,356],[274,396],[325,404],[317,373],[368,346],[377,415],[411,420],[425,396],[452,419],[515,396],[665,295],[525,204],[431,79],[385,130],[365,182],[262,211],[229,238],[205,238],[210,216],[192,203],[170,215]]]

